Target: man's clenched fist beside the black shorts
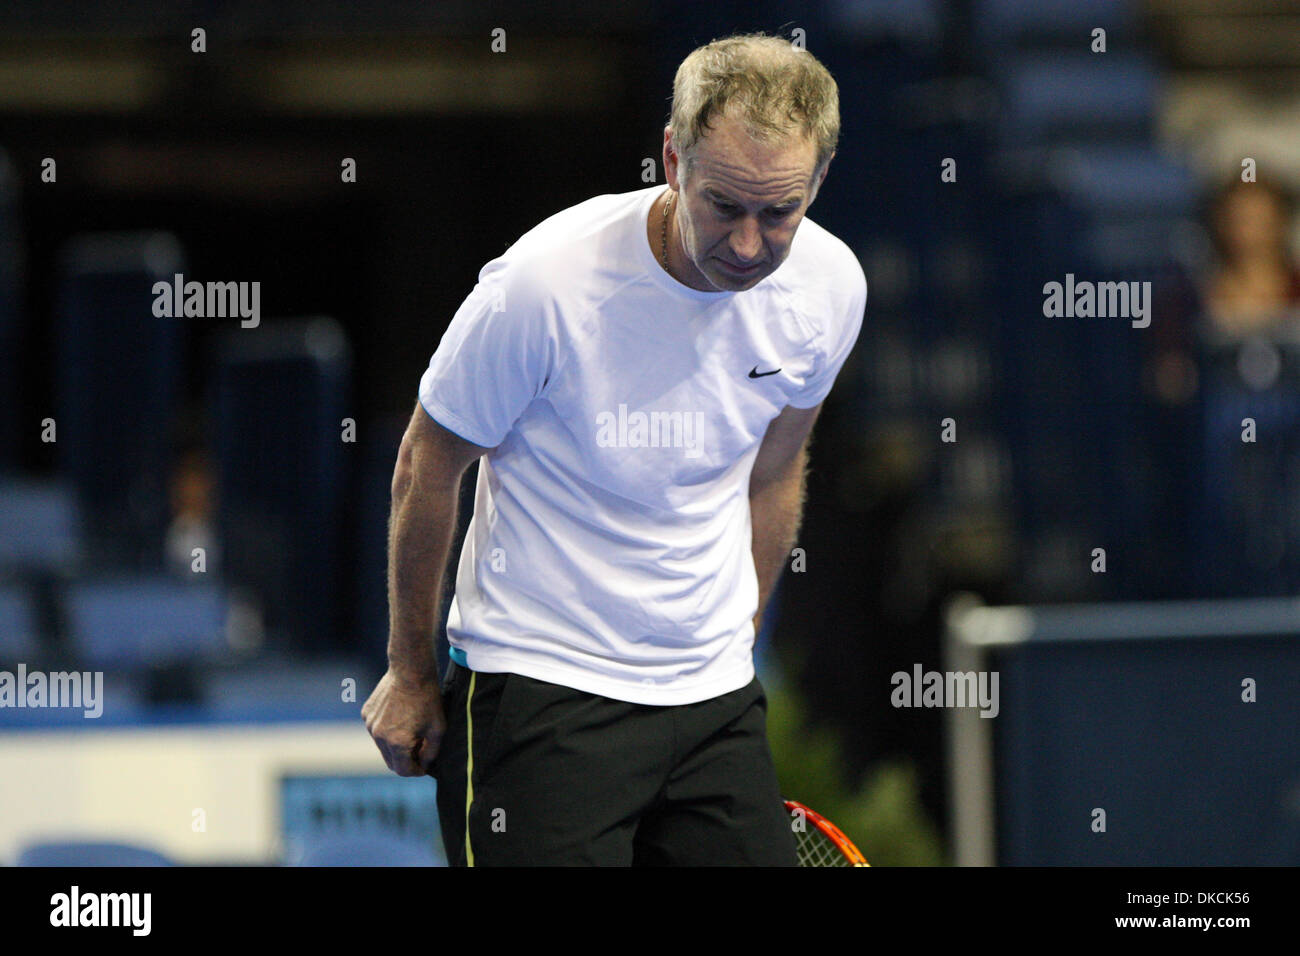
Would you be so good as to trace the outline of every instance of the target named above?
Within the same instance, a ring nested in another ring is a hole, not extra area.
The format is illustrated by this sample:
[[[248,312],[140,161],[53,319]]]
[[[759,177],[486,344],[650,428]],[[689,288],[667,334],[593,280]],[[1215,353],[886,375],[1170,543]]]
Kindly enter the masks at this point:
[[[361,708],[365,730],[399,777],[421,777],[433,766],[447,731],[438,682],[398,678],[387,671]]]

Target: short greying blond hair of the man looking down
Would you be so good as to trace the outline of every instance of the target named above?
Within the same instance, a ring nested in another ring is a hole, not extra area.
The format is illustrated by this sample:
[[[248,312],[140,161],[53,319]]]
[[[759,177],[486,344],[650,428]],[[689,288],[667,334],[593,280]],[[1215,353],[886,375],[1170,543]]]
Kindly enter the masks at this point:
[[[798,133],[816,146],[815,173],[831,161],[840,139],[840,91],[811,53],[757,33],[714,40],[682,60],[668,126],[684,166],[710,121],[733,105],[754,139],[771,143]]]

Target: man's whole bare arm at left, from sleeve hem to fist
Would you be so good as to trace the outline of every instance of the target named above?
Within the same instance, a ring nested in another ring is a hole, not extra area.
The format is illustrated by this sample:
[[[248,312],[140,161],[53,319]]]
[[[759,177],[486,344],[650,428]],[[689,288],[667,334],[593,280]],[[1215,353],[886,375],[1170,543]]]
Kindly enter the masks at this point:
[[[398,450],[389,518],[389,670],[361,717],[389,769],[402,777],[428,771],[446,730],[433,631],[460,479],[489,450],[448,432],[419,403]]]

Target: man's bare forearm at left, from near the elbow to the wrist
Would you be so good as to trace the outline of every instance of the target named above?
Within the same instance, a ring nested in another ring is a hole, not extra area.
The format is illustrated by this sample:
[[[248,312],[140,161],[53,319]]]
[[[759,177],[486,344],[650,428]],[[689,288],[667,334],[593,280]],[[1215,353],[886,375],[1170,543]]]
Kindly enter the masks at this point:
[[[399,466],[389,518],[389,670],[437,683],[434,627],[456,527],[459,476],[430,479]]]

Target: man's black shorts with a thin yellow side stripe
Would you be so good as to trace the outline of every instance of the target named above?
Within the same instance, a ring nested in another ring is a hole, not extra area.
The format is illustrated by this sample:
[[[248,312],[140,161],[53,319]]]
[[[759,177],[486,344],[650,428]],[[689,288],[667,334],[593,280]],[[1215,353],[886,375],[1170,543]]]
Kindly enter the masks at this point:
[[[758,678],[651,706],[452,662],[442,701],[452,866],[797,865]]]

